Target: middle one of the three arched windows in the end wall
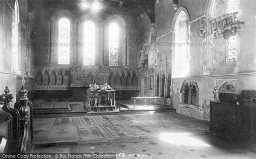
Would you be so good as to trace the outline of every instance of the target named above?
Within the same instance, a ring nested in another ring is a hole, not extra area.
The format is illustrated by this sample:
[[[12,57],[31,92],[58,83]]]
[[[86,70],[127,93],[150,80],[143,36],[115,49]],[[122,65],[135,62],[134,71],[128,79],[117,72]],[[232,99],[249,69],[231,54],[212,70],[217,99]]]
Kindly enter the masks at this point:
[[[84,65],[95,65],[95,24],[84,23]]]

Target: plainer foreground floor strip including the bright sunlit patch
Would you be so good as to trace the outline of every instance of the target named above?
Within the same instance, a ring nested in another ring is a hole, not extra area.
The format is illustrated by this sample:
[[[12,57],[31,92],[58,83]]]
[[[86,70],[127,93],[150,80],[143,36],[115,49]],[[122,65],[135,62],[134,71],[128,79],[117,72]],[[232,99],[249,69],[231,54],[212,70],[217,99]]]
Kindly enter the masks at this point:
[[[182,136],[180,136],[182,138]],[[34,153],[116,153],[117,158],[255,158],[256,154],[207,135],[191,136],[183,145],[163,139],[130,140],[87,144],[57,144],[35,148]],[[181,140],[181,139],[178,139]],[[201,144],[198,144],[201,143]],[[198,145],[195,145],[198,144]]]

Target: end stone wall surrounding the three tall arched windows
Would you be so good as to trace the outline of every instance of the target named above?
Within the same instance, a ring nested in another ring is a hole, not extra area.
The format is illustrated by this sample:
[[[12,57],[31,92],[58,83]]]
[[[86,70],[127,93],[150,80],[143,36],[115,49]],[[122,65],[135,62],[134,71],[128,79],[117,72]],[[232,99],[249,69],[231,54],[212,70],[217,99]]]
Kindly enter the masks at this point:
[[[79,12],[76,10],[52,9],[38,6],[33,11],[33,52],[37,65],[58,64],[58,20],[70,20],[70,64],[83,65],[83,24],[92,20],[96,25],[95,65],[109,66],[108,26],[117,22],[120,29],[118,67],[137,67],[139,47],[138,20],[135,16],[115,15],[99,12]],[[39,60],[40,59],[40,60]]]

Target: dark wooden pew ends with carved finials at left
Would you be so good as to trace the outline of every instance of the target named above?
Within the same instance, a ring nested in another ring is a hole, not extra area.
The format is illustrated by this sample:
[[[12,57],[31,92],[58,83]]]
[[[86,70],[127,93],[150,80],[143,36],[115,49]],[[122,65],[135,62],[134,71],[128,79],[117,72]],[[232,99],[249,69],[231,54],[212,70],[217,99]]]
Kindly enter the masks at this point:
[[[32,102],[27,98],[28,91],[22,86],[19,94],[21,95],[21,100],[17,100],[15,104],[15,109],[12,109],[10,102],[13,98],[9,94],[8,87],[4,90],[5,94],[0,97],[0,100],[4,102],[0,115],[9,115],[9,129],[7,136],[7,145],[5,147],[6,153],[30,153],[33,145],[33,133],[32,133]],[[7,115],[7,116],[8,116]],[[1,122],[0,122],[1,123]],[[3,125],[0,125],[2,129]],[[6,126],[5,126],[6,127]],[[3,126],[3,128],[5,128]],[[6,128],[5,128],[6,129]],[[6,136],[4,133],[0,133],[0,136]]]

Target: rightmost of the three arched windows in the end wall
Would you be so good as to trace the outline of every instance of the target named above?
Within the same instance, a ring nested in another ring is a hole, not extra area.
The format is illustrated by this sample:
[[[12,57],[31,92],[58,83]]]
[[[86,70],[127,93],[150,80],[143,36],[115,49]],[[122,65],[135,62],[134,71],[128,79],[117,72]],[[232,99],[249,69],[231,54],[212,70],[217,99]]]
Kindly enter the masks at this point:
[[[109,66],[118,66],[119,27],[116,23],[109,26]]]

